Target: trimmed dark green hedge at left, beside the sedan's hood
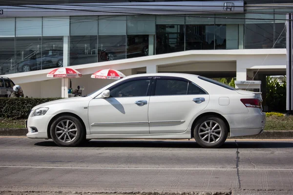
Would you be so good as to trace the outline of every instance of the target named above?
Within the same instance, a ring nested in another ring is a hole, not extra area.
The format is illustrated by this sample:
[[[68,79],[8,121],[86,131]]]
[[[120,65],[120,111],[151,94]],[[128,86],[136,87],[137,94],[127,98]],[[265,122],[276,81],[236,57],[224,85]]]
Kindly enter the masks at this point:
[[[61,98],[0,98],[0,117],[26,119],[33,107]]]

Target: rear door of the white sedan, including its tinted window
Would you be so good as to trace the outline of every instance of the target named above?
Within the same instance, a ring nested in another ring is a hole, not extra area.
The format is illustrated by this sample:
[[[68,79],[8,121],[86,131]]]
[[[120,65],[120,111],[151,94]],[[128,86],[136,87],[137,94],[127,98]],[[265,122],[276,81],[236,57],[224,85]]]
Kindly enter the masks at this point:
[[[151,134],[182,133],[209,102],[209,94],[195,83],[177,77],[156,77],[149,99]]]

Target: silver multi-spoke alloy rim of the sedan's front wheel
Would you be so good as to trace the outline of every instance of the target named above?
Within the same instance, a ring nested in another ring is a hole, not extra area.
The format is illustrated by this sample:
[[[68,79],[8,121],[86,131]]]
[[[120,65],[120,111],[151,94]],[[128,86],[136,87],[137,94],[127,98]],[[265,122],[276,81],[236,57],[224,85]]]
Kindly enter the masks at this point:
[[[56,125],[55,134],[62,142],[72,142],[78,134],[76,124],[71,120],[62,120]]]

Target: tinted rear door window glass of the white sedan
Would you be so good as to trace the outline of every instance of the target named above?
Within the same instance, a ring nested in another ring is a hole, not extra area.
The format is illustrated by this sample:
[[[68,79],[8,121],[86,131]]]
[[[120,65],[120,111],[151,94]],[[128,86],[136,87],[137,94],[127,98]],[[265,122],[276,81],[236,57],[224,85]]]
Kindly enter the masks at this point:
[[[156,79],[155,96],[207,94],[192,82],[179,79]]]

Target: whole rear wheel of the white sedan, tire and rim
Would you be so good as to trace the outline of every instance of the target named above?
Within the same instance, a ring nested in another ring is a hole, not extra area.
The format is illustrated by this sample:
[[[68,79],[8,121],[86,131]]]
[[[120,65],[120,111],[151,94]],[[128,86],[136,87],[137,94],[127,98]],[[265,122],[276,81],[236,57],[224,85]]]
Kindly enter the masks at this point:
[[[210,126],[210,122],[212,121],[212,126],[216,125],[216,123],[218,123],[218,125],[212,130],[209,127],[206,130],[200,129],[201,127],[205,128],[206,124],[205,122],[208,124],[208,126]],[[221,129],[221,132],[218,131],[218,126],[220,127],[219,129]],[[202,131],[202,132],[201,132]],[[217,132],[215,132],[217,131]],[[219,133],[220,132],[220,133]],[[201,135],[199,135],[201,133]],[[217,134],[219,137],[217,137],[215,134]],[[216,116],[205,116],[205,117],[201,117],[195,124],[194,130],[193,130],[193,135],[194,135],[194,139],[195,141],[203,148],[218,148],[220,146],[222,146],[224,144],[224,142],[226,141],[227,137],[228,137],[228,128],[227,125],[225,124],[225,122]],[[207,136],[205,138],[205,136]],[[210,136],[210,138],[209,138]],[[216,141],[214,141],[213,138],[216,139]],[[210,142],[210,143],[208,143]]]

